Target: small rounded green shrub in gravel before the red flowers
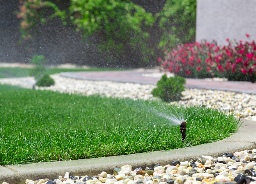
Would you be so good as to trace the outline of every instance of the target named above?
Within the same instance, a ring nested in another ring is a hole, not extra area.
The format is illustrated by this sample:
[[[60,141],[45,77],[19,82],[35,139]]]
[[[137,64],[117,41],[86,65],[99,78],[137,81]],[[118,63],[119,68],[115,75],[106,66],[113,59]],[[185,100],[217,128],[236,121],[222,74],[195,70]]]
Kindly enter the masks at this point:
[[[161,98],[165,102],[179,101],[184,91],[186,80],[183,77],[176,76],[168,78],[163,75],[157,82],[157,88],[152,90],[153,96]]]

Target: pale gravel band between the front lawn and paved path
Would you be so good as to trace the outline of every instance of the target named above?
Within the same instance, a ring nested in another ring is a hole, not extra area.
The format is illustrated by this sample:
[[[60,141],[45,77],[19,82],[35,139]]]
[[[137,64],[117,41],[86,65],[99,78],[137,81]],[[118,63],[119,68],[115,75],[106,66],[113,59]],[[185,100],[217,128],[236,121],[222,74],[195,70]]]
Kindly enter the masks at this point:
[[[158,100],[151,94],[155,85],[138,83],[118,83],[113,81],[89,81],[51,75],[55,85],[50,87],[35,87],[37,90],[52,90],[62,93],[92,95],[99,94],[114,98],[130,98],[143,100]],[[35,84],[33,77],[3,78],[1,84],[19,85],[23,88],[32,88]],[[219,90],[186,89],[177,105],[204,105],[218,108],[225,112],[233,112],[238,118],[256,121],[256,95],[246,93],[225,92]]]

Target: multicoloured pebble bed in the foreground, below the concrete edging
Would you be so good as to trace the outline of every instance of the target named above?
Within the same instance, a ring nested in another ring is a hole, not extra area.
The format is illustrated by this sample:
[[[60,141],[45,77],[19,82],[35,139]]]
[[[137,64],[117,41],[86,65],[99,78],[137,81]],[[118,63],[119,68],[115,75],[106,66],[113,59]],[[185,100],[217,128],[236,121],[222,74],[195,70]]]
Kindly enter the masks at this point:
[[[113,173],[102,171],[95,176],[64,176],[50,180],[26,180],[26,184],[255,184],[256,149],[223,153],[218,158],[200,156],[190,161],[170,161],[152,168],[124,165]],[[85,173],[86,174],[86,173]],[[7,183],[3,183],[7,184]]]

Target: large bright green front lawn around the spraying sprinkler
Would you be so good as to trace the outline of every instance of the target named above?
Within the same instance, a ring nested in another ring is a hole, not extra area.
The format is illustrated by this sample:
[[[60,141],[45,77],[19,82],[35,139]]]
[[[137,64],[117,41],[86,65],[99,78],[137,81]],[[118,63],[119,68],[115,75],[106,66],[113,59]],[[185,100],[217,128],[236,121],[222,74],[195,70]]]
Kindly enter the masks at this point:
[[[186,119],[185,141],[158,110]],[[9,85],[0,85],[0,112],[0,165],[169,150],[223,139],[240,126],[214,109]]]

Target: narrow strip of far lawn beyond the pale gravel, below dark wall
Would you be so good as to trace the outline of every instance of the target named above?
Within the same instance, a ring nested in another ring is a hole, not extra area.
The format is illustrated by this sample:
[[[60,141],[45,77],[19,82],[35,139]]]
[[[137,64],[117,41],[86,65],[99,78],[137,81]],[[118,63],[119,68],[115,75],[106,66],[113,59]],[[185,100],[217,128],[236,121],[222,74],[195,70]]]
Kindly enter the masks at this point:
[[[27,77],[31,68],[0,68],[0,78],[11,78],[11,77]],[[56,74],[60,72],[82,72],[82,71],[111,71],[111,70],[122,70],[122,69],[109,69],[109,68],[77,68],[77,69],[66,69],[66,68],[46,68],[48,74]]]

